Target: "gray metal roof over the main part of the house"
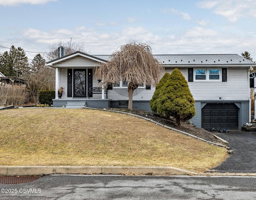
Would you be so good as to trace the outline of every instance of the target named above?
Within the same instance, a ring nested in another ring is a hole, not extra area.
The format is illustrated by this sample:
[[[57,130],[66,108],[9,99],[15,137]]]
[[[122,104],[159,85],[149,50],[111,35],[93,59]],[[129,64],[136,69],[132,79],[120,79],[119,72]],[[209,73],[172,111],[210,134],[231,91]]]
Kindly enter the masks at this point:
[[[94,55],[108,60],[110,55]],[[255,63],[238,54],[186,54],[186,55],[153,55],[164,65],[236,65]]]

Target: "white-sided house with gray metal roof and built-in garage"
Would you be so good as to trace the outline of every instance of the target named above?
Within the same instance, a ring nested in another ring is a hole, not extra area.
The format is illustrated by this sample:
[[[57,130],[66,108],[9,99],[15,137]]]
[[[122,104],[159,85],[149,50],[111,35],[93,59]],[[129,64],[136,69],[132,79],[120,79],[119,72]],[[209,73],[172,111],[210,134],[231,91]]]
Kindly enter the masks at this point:
[[[153,55],[166,72],[178,68],[195,100],[196,115],[190,120],[198,128],[240,130],[250,122],[250,69],[256,64],[237,54]],[[94,108],[128,105],[127,83],[98,89],[94,67],[108,62],[110,55],[89,55],[82,52],[47,62],[56,71],[55,107]],[[64,87],[62,97],[58,89]],[[155,87],[140,86],[134,90],[133,108],[150,110],[149,101]]]

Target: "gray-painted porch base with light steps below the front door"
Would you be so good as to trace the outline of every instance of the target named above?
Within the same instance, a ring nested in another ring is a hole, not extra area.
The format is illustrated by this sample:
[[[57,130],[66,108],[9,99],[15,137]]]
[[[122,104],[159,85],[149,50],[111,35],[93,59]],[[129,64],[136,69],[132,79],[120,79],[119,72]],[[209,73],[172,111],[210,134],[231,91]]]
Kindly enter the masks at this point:
[[[73,99],[53,99],[54,107],[66,108],[110,108],[111,99],[88,99],[88,98],[73,98]]]

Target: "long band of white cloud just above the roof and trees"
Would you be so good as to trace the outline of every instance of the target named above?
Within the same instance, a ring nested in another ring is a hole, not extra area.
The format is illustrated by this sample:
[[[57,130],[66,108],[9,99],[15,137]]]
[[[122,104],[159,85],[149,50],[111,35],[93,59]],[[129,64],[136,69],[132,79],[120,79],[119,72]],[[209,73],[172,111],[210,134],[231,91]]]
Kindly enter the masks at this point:
[[[224,31],[224,30],[222,30]],[[112,32],[98,32],[84,26],[74,29],[58,29],[48,32],[29,28],[20,32],[19,38],[0,40],[7,47],[20,46],[26,51],[47,52],[50,44],[60,41],[84,42],[89,54],[111,54],[120,45],[130,40],[149,42],[153,54],[221,54],[254,51],[252,44],[256,43],[256,36],[251,34],[236,34],[195,27],[184,34],[172,32],[170,35],[158,36],[142,26],[123,27],[122,30]],[[27,54],[33,59],[36,54]]]

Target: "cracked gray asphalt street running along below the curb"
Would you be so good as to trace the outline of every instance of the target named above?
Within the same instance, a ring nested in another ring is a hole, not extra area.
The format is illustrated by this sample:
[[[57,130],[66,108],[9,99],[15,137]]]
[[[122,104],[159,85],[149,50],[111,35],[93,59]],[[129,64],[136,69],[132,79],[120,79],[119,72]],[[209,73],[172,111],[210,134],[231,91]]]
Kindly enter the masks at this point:
[[[0,200],[249,200],[256,199],[255,185],[255,176],[46,175],[24,184],[0,184]]]

